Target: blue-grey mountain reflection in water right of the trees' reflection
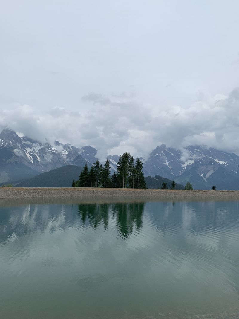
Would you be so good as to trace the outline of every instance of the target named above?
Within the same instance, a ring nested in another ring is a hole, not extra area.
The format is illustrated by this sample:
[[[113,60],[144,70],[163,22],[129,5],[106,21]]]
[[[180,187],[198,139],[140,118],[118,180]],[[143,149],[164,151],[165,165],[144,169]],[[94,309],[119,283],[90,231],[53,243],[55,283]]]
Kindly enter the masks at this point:
[[[203,233],[205,227],[235,227],[238,225],[239,202],[232,201],[162,201],[146,204],[150,219],[159,230],[172,226],[190,232]]]

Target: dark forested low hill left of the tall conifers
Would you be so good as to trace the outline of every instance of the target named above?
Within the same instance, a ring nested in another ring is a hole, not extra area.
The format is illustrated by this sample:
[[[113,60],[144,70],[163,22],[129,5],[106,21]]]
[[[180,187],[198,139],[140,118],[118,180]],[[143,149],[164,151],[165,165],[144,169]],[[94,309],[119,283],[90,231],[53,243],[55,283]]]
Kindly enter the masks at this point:
[[[42,173],[20,182],[18,187],[71,187],[73,179],[78,180],[83,167],[67,165]]]

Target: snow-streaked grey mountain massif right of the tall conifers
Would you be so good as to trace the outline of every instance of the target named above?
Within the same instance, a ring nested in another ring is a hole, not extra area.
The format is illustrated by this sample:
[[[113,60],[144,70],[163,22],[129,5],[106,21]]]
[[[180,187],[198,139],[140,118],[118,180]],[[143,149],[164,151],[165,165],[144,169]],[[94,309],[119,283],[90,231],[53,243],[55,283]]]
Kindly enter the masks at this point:
[[[239,156],[207,146],[188,146],[184,152],[164,144],[144,163],[144,174],[191,182],[195,189],[239,189]]]

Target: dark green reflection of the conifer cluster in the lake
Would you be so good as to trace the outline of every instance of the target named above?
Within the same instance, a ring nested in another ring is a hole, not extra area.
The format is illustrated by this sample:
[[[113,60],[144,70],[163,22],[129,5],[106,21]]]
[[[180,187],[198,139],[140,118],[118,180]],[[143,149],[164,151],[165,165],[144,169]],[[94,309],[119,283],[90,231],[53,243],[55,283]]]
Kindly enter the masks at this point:
[[[143,225],[143,211],[145,203],[110,203],[110,204],[81,204],[78,213],[83,224],[87,222],[97,228],[102,222],[105,229],[109,223],[109,213],[116,216],[116,226],[119,233],[127,238],[135,230],[139,231]]]

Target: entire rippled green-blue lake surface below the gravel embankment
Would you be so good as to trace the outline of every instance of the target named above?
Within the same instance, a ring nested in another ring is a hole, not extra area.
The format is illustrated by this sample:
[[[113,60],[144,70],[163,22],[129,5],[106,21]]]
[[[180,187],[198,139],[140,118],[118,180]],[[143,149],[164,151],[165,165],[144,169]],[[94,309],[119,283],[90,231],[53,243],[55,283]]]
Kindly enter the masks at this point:
[[[0,202],[1,318],[238,318],[239,202]]]

